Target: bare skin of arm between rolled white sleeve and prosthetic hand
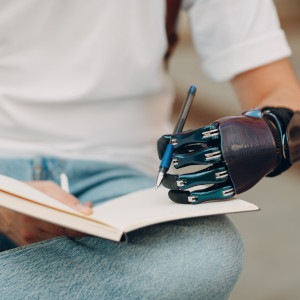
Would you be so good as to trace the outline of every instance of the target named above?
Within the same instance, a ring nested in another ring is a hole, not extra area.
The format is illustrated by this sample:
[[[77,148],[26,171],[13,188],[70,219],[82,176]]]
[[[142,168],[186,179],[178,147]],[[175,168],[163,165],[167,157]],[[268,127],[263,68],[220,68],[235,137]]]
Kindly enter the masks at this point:
[[[239,74],[231,83],[245,110],[272,106],[300,111],[300,86],[288,59]]]

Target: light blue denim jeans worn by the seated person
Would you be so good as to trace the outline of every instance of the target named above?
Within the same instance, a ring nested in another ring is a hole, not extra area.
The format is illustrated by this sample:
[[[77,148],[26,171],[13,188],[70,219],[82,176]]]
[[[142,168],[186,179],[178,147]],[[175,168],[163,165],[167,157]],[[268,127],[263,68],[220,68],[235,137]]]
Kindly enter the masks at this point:
[[[94,205],[155,184],[109,163],[0,160],[0,173],[19,180],[58,182],[62,172],[70,192]],[[142,228],[121,243],[63,236],[0,252],[0,299],[227,299],[242,264],[241,238],[224,215]]]

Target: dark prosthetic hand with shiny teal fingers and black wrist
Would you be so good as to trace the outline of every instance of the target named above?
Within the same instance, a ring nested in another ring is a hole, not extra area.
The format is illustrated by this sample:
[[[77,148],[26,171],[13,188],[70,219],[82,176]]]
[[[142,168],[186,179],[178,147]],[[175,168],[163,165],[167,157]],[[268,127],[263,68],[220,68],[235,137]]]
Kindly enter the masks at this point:
[[[194,173],[167,174],[162,183],[170,189],[170,199],[194,204],[226,199],[300,160],[300,112],[250,110],[197,130],[163,136],[157,143],[160,159],[170,139],[176,169],[208,166]]]

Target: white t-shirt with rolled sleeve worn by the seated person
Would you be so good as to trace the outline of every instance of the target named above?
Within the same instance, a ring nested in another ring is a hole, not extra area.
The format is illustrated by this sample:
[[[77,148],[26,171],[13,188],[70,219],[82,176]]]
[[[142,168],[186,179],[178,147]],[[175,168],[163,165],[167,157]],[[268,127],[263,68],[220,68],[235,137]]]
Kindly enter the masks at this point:
[[[270,0],[182,6],[215,80],[290,55]],[[164,0],[0,0],[0,156],[156,172],[174,96],[166,47]]]

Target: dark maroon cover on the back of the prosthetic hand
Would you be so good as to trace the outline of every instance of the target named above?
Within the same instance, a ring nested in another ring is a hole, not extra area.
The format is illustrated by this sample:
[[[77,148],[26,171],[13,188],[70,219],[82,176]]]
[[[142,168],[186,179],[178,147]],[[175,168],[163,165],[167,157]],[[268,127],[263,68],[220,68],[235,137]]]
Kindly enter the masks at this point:
[[[276,144],[267,123],[250,116],[218,120],[224,161],[236,193],[253,187],[276,168]]]

